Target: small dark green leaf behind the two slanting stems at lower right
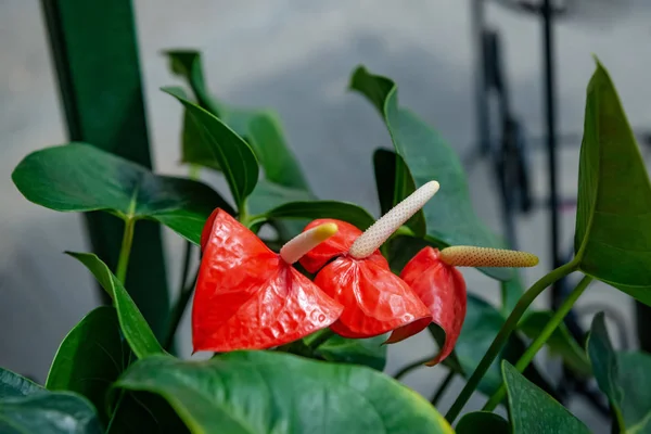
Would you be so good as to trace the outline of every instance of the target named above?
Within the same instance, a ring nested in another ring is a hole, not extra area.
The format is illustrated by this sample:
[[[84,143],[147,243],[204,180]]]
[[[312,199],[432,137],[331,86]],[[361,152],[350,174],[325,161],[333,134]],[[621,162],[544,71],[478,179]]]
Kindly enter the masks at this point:
[[[518,324],[518,330],[526,334],[529,339],[536,339],[551,320],[553,314],[551,311],[534,311],[527,315]],[[588,378],[592,374],[590,361],[586,357],[586,353],[580,345],[570,334],[567,327],[561,323],[549,336],[545,343],[552,355],[563,358],[565,363],[576,373]]]

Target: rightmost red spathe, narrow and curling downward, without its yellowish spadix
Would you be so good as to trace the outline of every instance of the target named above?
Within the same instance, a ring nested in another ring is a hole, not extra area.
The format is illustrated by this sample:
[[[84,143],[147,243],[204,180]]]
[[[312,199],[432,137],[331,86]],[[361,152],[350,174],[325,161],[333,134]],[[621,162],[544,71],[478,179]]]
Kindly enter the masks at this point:
[[[438,250],[424,247],[405,266],[400,277],[430,308],[433,322],[445,331],[443,348],[426,363],[436,365],[450,355],[461,333],[467,302],[463,276],[455,267],[438,259]],[[395,330],[387,343],[418,333],[420,330],[414,331],[416,326],[409,324]]]

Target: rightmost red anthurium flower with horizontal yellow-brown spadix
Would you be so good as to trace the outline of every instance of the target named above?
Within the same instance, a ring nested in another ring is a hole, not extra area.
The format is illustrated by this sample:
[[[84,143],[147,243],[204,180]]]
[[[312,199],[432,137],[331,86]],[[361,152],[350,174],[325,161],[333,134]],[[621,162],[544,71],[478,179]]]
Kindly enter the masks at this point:
[[[405,266],[400,278],[427,306],[432,321],[445,331],[445,343],[427,366],[434,366],[450,355],[461,333],[465,318],[465,281],[456,266],[532,267],[535,255],[499,248],[454,246],[443,251],[424,247]],[[394,330],[387,343],[399,342],[423,329],[421,320]],[[425,327],[427,324],[425,323]]]

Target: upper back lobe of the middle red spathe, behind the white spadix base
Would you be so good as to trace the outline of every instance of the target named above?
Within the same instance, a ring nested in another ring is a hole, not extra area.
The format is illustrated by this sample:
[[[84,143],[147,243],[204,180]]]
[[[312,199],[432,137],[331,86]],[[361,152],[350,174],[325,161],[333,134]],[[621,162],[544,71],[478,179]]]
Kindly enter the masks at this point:
[[[362,233],[357,227],[350,225],[349,222],[333,218],[319,218],[314,220],[307,225],[303,231],[305,232],[306,230],[315,228],[319,225],[330,222],[337,226],[337,232],[312,248],[299,260],[301,265],[309,272],[317,272],[333,257],[347,254],[355,240],[357,240],[357,237],[361,235]],[[381,259],[379,259],[379,257]],[[373,252],[369,258],[384,260],[384,263],[386,263],[379,250]]]

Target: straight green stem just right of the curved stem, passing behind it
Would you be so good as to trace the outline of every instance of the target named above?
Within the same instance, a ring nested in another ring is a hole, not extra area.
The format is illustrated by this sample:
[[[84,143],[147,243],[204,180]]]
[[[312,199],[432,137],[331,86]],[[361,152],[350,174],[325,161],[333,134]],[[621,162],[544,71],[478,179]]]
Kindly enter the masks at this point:
[[[578,282],[576,288],[572,290],[570,295],[567,295],[567,298],[565,298],[563,304],[553,314],[547,326],[545,326],[540,334],[538,334],[538,337],[536,337],[534,342],[532,342],[532,345],[526,349],[526,352],[524,352],[522,357],[520,357],[520,360],[518,360],[518,363],[515,363],[515,369],[518,369],[518,371],[523,372],[525,368],[532,362],[534,357],[536,357],[536,353],[538,353],[538,350],[542,347],[542,345],[545,345],[549,336],[551,336],[556,329],[561,324],[561,322],[563,322],[565,316],[570,312],[580,294],[584,293],[584,291],[586,290],[586,288],[588,288],[591,281],[591,277],[585,276],[580,280],[580,282]],[[501,403],[507,391],[505,388],[505,385],[502,384],[500,388],[498,388],[497,392],[490,397],[490,399],[488,399],[488,401],[484,405],[484,408],[482,410],[493,411],[495,407],[497,407],[497,405]]]

